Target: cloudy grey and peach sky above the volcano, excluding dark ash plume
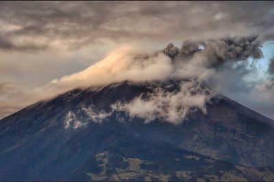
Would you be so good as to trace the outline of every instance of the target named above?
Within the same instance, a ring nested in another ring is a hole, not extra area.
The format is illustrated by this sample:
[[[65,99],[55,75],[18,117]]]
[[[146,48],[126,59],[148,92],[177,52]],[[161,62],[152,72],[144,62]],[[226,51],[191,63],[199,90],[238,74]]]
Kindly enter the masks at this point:
[[[262,56],[244,52],[228,57],[237,63],[223,61],[218,67],[197,61],[211,59],[208,52],[226,46],[224,38],[249,36],[258,36],[252,45]],[[140,73],[146,80],[166,77],[173,72],[169,57],[160,54],[140,66],[132,52],[208,40],[214,41],[205,43],[194,65],[205,67],[199,71],[206,75],[214,72],[208,76],[212,87],[274,118],[273,38],[271,1],[1,1],[0,118],[74,87],[136,80]],[[195,72],[192,68],[183,71]]]

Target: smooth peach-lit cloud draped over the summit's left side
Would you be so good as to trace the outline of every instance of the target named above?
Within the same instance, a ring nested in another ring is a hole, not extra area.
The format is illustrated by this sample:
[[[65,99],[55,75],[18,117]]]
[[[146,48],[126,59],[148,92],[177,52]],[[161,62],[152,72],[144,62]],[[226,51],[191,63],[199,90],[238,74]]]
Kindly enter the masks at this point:
[[[130,46],[124,46],[110,52],[103,60],[69,76],[55,79],[43,87],[43,90],[66,91],[75,87],[108,85],[123,80],[144,81],[164,80],[173,72],[171,59],[162,52],[144,53]]]

